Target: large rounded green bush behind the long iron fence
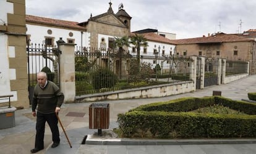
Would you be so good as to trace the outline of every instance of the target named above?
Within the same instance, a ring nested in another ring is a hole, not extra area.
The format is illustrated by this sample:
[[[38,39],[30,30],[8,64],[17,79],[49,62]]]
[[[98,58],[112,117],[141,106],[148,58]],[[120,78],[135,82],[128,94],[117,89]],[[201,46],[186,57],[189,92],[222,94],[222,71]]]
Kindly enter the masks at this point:
[[[95,89],[114,87],[117,76],[108,68],[99,68],[92,73],[92,85]]]

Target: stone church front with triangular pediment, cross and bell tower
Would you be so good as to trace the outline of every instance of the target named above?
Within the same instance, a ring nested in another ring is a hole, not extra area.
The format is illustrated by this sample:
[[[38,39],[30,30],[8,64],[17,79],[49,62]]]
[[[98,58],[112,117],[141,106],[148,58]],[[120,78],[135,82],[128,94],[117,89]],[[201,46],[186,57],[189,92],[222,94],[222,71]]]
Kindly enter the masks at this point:
[[[90,33],[90,47],[106,51],[109,48],[113,49],[114,36],[122,37],[130,35],[130,17],[123,9],[123,5],[119,5],[119,10],[116,14],[109,2],[109,9],[106,13],[92,16],[87,22],[79,23]]]

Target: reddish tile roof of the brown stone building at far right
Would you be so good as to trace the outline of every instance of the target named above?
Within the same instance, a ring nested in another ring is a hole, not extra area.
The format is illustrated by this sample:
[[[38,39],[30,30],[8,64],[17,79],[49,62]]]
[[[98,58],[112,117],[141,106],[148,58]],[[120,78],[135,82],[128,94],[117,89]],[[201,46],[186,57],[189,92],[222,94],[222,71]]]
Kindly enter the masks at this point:
[[[244,42],[254,41],[252,39],[236,36],[234,34],[218,33],[208,37],[190,38],[190,39],[172,39],[173,44],[202,44],[202,43],[228,43],[228,42]]]

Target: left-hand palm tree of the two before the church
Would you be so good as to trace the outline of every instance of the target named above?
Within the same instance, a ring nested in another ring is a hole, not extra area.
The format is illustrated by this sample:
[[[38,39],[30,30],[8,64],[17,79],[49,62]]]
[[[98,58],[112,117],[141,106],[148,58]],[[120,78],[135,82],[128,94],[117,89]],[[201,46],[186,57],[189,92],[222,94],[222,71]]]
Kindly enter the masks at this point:
[[[119,78],[122,77],[122,56],[123,56],[123,47],[129,47],[129,38],[128,36],[122,36],[122,38],[114,37],[114,47],[118,47],[118,55],[119,55]]]

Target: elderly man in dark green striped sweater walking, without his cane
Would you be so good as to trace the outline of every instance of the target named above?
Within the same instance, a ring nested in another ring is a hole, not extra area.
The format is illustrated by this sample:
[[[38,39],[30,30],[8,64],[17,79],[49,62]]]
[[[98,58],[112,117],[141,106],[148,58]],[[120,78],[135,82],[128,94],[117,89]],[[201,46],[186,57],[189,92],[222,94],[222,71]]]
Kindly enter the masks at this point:
[[[35,148],[30,150],[31,153],[39,152],[44,148],[46,122],[49,124],[52,133],[53,144],[51,147],[58,147],[60,139],[56,113],[59,113],[64,101],[64,94],[56,84],[47,80],[45,72],[37,73],[36,77],[38,83],[34,89],[32,102],[32,115],[36,116],[36,137]]]

